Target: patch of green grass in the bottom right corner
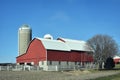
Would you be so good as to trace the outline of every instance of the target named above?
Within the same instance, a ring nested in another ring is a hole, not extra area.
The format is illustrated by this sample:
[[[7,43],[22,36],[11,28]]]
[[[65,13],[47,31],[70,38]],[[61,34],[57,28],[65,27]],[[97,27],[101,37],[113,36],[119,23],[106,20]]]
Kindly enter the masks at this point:
[[[90,80],[120,80],[120,73],[116,75],[100,77],[100,78],[90,79]]]

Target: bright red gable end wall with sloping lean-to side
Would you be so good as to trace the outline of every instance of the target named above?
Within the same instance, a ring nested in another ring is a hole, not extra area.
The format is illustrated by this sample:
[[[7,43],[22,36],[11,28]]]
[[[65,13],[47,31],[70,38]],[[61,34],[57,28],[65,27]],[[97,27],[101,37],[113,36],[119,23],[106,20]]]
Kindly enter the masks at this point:
[[[31,63],[39,64],[39,61],[46,60],[46,49],[42,42],[38,39],[33,39],[25,54],[17,57],[17,63]]]

